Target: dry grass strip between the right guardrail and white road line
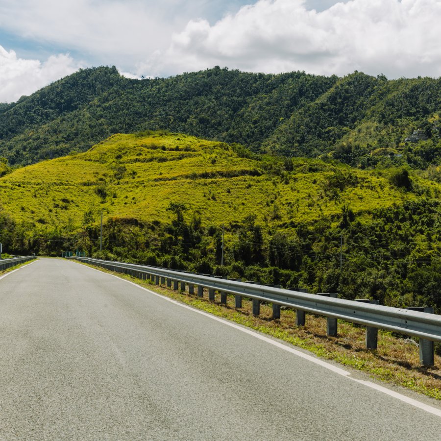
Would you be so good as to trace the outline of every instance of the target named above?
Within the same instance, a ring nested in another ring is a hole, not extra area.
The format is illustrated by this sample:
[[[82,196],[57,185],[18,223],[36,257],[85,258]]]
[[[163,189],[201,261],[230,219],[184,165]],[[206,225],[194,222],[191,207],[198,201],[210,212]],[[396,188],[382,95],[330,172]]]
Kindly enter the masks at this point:
[[[326,319],[321,316],[307,314],[306,325],[296,326],[293,310],[282,309],[281,318],[272,319],[272,306],[262,303],[260,316],[256,317],[252,314],[252,302],[245,298],[243,307],[236,309],[234,295],[227,295],[227,304],[221,305],[218,293],[215,302],[212,302],[208,300],[207,290],[204,290],[203,297],[198,297],[197,294],[190,295],[188,288],[185,292],[173,291],[165,286],[154,285],[151,281],[85,263],[83,265],[115,274],[202,311],[311,351],[319,357],[364,371],[377,380],[441,400],[441,357],[435,354],[434,367],[421,367],[418,346],[404,335],[395,337],[392,332],[379,329],[378,348],[368,350],[365,348],[365,328],[357,324],[338,320],[338,337],[329,337],[326,335]]]

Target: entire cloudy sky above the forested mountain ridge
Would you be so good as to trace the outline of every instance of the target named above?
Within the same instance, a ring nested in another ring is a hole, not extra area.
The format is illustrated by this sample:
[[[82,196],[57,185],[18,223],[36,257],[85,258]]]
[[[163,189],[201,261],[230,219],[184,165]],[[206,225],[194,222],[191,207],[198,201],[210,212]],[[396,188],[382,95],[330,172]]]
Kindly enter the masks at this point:
[[[79,68],[441,75],[439,0],[0,0],[0,101]]]

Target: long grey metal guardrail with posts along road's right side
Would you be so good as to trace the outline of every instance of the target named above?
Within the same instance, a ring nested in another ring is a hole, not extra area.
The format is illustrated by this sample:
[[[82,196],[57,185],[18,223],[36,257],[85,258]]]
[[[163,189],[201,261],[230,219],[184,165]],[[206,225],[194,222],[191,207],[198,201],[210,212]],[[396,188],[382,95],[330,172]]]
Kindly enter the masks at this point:
[[[280,306],[286,306],[297,310],[297,324],[304,324],[304,312],[317,314],[328,318],[328,334],[337,335],[336,319],[358,323],[367,327],[366,344],[368,348],[377,347],[377,329],[386,329],[400,334],[418,337],[420,339],[420,361],[424,366],[432,366],[434,360],[433,342],[441,342],[441,316],[427,312],[412,311],[409,309],[392,308],[363,301],[352,301],[335,298],[331,294],[323,293],[307,294],[282,288],[226,280],[209,275],[193,274],[189,272],[167,270],[163,268],[148,267],[143,265],[127,264],[123,262],[110,262],[88,257],[71,257],[81,262],[90,263],[108,270],[124,272],[140,279],[150,278],[159,285],[165,283],[178,289],[178,282],[181,289],[185,284],[189,285],[191,294],[194,292],[194,285],[197,285],[198,294],[203,288],[207,288],[209,298],[214,300],[215,291],[236,296],[236,306],[242,304],[242,297],[253,300],[253,313],[259,314],[260,302],[273,304],[273,316],[280,317]],[[224,297],[225,298],[225,297]],[[238,301],[240,299],[240,301]],[[240,307],[240,306],[239,306]],[[302,321],[302,322],[301,322]],[[332,331],[330,331],[332,329]]]

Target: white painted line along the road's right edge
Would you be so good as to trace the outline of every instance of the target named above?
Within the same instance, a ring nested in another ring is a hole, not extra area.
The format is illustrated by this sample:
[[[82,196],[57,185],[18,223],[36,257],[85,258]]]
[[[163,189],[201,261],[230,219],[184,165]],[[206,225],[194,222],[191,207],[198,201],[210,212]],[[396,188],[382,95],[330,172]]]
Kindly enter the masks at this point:
[[[69,262],[73,262],[73,261],[69,261]],[[214,316],[212,314],[206,313],[205,311],[201,311],[201,310],[196,309],[196,308],[194,308],[192,306],[186,305],[185,303],[181,303],[181,302],[178,302],[178,301],[176,301],[176,300],[174,300],[174,299],[172,299],[170,297],[166,297],[165,295],[155,293],[154,291],[150,291],[149,289],[144,288],[143,286],[138,285],[137,283],[131,282],[130,280],[123,279],[123,278],[121,278],[121,277],[119,277],[117,275],[109,274],[107,272],[98,270],[96,268],[88,267],[87,265],[83,265],[83,264],[78,263],[78,262],[73,262],[73,263],[75,263],[77,265],[81,265],[83,268],[89,268],[89,270],[98,271],[101,274],[107,274],[109,276],[116,277],[119,280],[123,280],[124,282],[130,283],[131,285],[134,285],[137,288],[140,288],[140,289],[142,289],[144,291],[147,291],[147,293],[149,293],[149,294],[156,295],[157,297],[160,297],[160,298],[162,298],[164,300],[167,300],[167,301],[169,301],[171,303],[174,303],[175,305],[181,306],[182,308],[185,308],[185,309],[188,309],[190,311],[196,312],[197,314],[201,314],[202,316],[208,317],[210,319],[219,321],[219,322],[221,322],[221,323],[223,323],[223,324],[225,324],[227,326],[231,326],[232,328],[235,328],[235,329],[238,329],[239,331],[245,332],[245,334],[252,335],[253,337],[256,337],[259,340],[263,340],[266,343],[270,343],[273,346],[276,346],[276,347],[278,347],[280,349],[283,349],[285,351],[291,352],[292,354],[297,355],[298,357],[304,358],[305,360],[308,360],[308,361],[310,361],[312,363],[315,363],[316,365],[319,365],[319,366],[321,366],[323,368],[329,369],[329,370],[331,370],[331,371],[333,371],[333,372],[335,372],[335,373],[337,373],[339,375],[342,375],[343,377],[346,377],[349,380],[355,381],[356,383],[360,383],[360,384],[362,384],[362,385],[364,385],[364,386],[366,386],[368,388],[374,389],[374,390],[376,390],[378,392],[383,392],[386,395],[392,396],[393,398],[396,398],[396,399],[398,399],[400,401],[403,401],[404,403],[407,403],[407,404],[410,404],[412,406],[415,406],[415,407],[417,407],[417,408],[419,408],[421,410],[424,410],[424,411],[426,411],[426,412],[428,412],[430,414],[436,415],[437,417],[441,417],[441,409],[437,409],[436,407],[432,407],[432,406],[429,406],[428,404],[421,403],[418,400],[410,398],[410,397],[408,397],[406,395],[403,395],[403,394],[401,394],[399,392],[391,391],[390,389],[385,388],[384,386],[380,386],[380,385],[378,385],[376,383],[373,383],[371,381],[359,380],[357,378],[353,378],[353,377],[350,376],[351,373],[348,372],[347,370],[344,370],[344,369],[338,368],[336,366],[333,366],[330,363],[327,363],[327,362],[325,362],[323,360],[320,360],[319,358],[313,357],[312,355],[308,355],[308,354],[305,354],[303,352],[300,352],[300,351],[298,351],[298,350],[296,350],[296,349],[294,349],[294,348],[292,348],[290,346],[287,346],[286,344],[277,342],[275,340],[272,340],[272,339],[270,339],[268,337],[265,337],[264,335],[261,335],[261,334],[255,332],[255,331],[252,331],[251,329],[248,329],[248,328],[245,328],[243,326],[240,326],[240,325],[238,325],[236,323],[233,323],[233,322],[231,322],[229,320],[221,319],[221,318],[216,317],[216,316]],[[3,277],[5,277],[5,276],[3,276]]]

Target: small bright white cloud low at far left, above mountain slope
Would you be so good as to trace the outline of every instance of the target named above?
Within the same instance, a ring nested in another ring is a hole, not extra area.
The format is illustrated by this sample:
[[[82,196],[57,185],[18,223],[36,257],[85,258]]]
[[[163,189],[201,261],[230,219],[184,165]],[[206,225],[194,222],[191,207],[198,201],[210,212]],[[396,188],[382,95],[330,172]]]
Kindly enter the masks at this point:
[[[0,46],[0,101],[17,101],[80,67],[67,54],[50,56],[45,62],[18,58]]]

